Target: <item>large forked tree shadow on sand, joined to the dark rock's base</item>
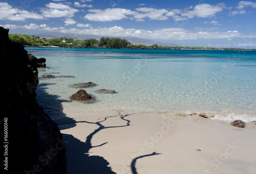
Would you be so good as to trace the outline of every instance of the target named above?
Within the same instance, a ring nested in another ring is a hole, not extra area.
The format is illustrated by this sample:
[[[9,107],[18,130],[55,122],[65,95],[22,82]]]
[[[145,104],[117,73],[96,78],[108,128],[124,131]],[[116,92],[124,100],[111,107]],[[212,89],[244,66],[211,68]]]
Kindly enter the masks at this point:
[[[87,136],[85,143],[76,139],[72,135],[62,134],[67,146],[68,164],[71,164],[67,166],[67,172],[68,173],[94,173],[94,174],[95,173],[106,173],[106,174],[115,173],[112,171],[111,167],[108,166],[109,162],[106,161],[103,157],[89,156],[88,153],[90,153],[90,149],[94,147],[100,147],[108,143],[108,142],[105,142],[105,143],[93,146],[91,142],[95,134],[100,132],[100,130],[107,129],[107,128],[130,126],[130,120],[125,119],[125,117],[130,115],[132,114],[121,115],[119,112],[119,115],[105,117],[102,121],[98,121],[98,122],[79,121],[79,123],[96,124],[98,126],[98,128],[95,129],[94,132],[92,132],[90,135]],[[126,124],[119,125],[119,126],[102,125],[104,121],[112,117],[118,117],[124,120]]]

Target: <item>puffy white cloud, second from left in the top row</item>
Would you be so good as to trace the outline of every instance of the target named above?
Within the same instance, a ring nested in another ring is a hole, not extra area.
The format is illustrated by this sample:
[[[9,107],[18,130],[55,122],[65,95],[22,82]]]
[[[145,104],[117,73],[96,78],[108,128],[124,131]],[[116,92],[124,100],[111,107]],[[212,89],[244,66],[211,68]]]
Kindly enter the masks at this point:
[[[73,17],[79,10],[69,7],[68,5],[50,3],[40,11],[45,17]]]

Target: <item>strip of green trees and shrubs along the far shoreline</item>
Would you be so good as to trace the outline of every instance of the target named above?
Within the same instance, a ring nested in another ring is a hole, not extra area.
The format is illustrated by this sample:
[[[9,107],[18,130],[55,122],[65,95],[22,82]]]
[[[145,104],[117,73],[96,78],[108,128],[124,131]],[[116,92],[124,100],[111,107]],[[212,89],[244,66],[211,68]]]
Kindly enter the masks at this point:
[[[214,47],[182,47],[182,46],[145,46],[142,44],[131,44],[127,39],[116,37],[101,37],[99,40],[95,38],[85,40],[74,40],[73,38],[40,38],[29,35],[9,34],[9,38],[13,42],[18,42],[26,47],[66,47],[66,48],[129,48],[129,49],[175,49],[175,50],[242,50],[256,51],[256,49],[241,49],[241,48],[214,48]]]

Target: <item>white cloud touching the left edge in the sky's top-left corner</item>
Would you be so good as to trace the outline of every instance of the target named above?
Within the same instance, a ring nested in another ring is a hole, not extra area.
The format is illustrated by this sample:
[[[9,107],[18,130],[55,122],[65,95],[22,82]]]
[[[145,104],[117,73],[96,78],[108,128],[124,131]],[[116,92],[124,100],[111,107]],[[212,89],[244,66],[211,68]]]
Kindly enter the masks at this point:
[[[20,10],[17,8],[12,8],[8,3],[0,2],[0,20],[16,20],[24,21],[27,18],[31,19],[44,19],[43,16],[26,10]]]

